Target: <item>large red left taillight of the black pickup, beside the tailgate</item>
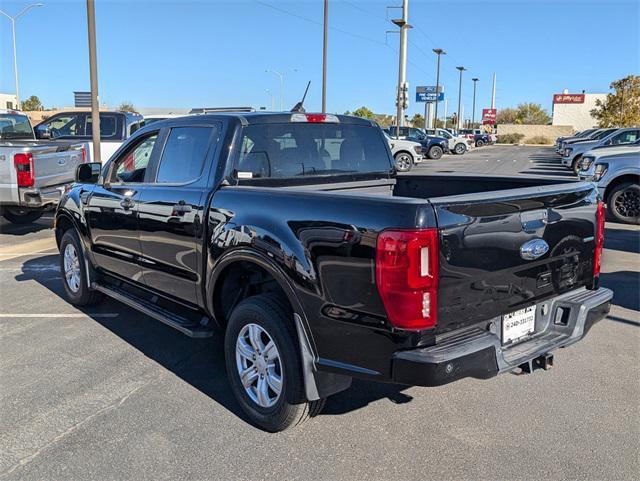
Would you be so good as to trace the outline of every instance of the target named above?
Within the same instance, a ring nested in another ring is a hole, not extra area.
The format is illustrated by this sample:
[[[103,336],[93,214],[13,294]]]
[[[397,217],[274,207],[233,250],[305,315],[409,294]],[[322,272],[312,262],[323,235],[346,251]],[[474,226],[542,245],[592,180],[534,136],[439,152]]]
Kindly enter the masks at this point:
[[[435,327],[438,230],[382,232],[376,246],[376,283],[389,322],[394,327]]]

